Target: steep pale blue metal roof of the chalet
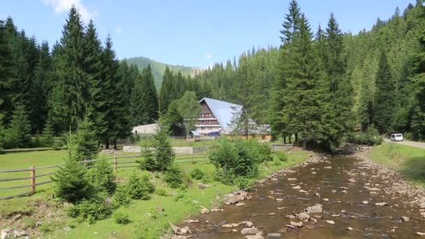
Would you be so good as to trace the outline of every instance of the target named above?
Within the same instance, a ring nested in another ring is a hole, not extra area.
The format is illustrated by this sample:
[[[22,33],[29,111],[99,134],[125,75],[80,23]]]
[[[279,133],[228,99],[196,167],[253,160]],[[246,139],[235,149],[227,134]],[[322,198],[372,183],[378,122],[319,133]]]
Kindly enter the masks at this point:
[[[231,133],[233,131],[231,127],[231,119],[235,113],[243,108],[243,106],[236,103],[230,103],[226,101],[219,101],[211,98],[203,98],[202,101],[206,101],[208,107],[210,108],[212,114],[214,114],[220,126],[222,126],[222,133]]]

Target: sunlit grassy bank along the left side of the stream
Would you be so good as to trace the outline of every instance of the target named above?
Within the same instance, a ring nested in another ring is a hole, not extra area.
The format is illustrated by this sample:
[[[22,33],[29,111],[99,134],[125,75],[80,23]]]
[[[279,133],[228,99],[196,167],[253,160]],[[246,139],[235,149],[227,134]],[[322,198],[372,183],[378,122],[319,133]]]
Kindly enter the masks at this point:
[[[299,164],[309,158],[310,152],[294,149],[287,161],[268,161],[261,164],[257,178]],[[115,212],[129,214],[130,223],[127,225],[115,223],[113,217],[108,217],[92,225],[78,222],[64,215],[64,205],[51,198],[52,189],[46,189],[41,194],[26,198],[16,198],[9,201],[0,201],[0,220],[6,227],[14,213],[22,213],[22,219],[12,226],[31,228],[35,222],[41,222],[41,226],[32,229],[36,236],[52,238],[158,238],[164,231],[169,230],[168,221],[173,223],[182,222],[187,217],[194,216],[201,210],[201,205],[206,208],[218,206],[218,199],[227,194],[235,187],[222,184],[214,180],[215,168],[211,164],[186,164],[179,166],[187,175],[193,168],[198,167],[206,173],[203,180],[190,180],[189,187],[185,191],[179,191],[166,187],[161,175],[152,175],[152,182],[157,187],[168,191],[168,196],[152,194],[150,200],[132,201],[129,207],[121,207]],[[119,182],[126,180],[133,168],[118,171]],[[212,187],[199,189],[199,182],[206,182]],[[49,196],[50,195],[50,196]],[[71,231],[64,231],[69,226]],[[10,225],[9,225],[10,227]]]

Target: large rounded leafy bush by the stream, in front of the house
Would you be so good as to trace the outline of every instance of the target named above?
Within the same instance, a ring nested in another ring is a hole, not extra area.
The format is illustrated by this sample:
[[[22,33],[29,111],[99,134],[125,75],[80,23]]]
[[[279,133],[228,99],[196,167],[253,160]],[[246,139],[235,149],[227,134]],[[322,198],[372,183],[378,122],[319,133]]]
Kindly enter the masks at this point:
[[[229,181],[235,176],[252,177],[257,174],[259,159],[259,143],[254,140],[222,138],[210,150],[209,159],[217,168],[218,179]]]

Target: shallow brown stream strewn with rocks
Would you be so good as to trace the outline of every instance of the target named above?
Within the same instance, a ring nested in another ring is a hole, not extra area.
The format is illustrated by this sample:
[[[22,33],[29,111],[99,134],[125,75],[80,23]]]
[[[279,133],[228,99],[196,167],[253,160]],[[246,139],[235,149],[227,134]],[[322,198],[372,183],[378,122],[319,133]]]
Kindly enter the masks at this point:
[[[190,238],[415,238],[425,233],[424,191],[364,155],[313,159],[260,180],[252,199],[239,201],[245,205],[224,205],[180,226],[188,226]]]

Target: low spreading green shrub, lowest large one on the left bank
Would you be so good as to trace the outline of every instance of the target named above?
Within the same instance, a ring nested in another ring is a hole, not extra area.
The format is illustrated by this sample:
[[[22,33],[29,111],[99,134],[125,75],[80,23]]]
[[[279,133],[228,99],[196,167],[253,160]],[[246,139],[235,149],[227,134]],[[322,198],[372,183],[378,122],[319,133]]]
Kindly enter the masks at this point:
[[[90,199],[84,199],[77,205],[79,215],[88,224],[105,219],[112,213],[112,208],[106,204],[105,197],[96,195]]]

